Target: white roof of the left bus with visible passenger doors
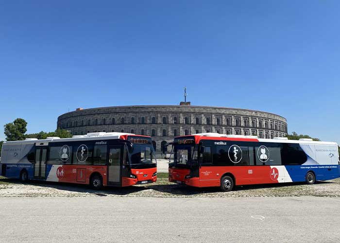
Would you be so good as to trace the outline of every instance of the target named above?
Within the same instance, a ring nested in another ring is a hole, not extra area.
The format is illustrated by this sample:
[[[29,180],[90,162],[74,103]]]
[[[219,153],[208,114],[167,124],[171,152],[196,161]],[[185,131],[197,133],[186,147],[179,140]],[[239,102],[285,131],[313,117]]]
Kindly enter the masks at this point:
[[[127,136],[138,136],[138,137],[146,137],[151,138],[149,136],[136,135],[133,133],[105,133],[105,132],[97,132],[97,133],[87,133],[86,135],[75,135],[72,138],[61,139],[59,137],[48,137],[47,139],[25,139],[21,141],[7,141],[4,142],[8,145],[10,144],[39,144],[39,145],[47,145],[50,142],[69,142],[69,141],[84,141],[84,140],[107,140],[107,139],[127,139]]]

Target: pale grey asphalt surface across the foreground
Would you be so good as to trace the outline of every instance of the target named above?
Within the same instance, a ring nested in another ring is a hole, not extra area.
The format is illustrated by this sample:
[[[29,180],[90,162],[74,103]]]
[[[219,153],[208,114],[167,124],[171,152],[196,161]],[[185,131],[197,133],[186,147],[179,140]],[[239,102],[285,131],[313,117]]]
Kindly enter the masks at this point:
[[[340,242],[340,198],[0,198],[0,242]]]

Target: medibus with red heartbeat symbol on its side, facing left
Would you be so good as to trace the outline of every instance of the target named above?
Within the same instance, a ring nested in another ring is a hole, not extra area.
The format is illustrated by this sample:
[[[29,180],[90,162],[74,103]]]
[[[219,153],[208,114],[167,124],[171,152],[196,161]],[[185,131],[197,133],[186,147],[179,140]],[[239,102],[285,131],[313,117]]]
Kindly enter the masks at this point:
[[[193,187],[231,191],[238,185],[313,184],[340,177],[335,142],[205,133],[176,137],[170,144],[169,181]]]

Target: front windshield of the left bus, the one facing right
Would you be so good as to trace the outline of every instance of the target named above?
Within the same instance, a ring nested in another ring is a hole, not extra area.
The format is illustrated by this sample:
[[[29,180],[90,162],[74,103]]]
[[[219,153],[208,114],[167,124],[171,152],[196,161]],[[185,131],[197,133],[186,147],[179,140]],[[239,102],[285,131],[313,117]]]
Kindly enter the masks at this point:
[[[155,164],[153,145],[151,144],[134,144],[131,153],[131,164]]]

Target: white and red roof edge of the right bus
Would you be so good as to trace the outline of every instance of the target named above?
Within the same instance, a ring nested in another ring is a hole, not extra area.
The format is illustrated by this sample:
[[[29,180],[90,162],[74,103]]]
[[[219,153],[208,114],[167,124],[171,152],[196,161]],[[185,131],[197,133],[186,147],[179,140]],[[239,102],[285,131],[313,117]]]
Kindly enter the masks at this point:
[[[229,141],[250,141],[250,142],[281,142],[281,143],[306,143],[306,144],[332,144],[338,145],[336,142],[324,142],[324,141],[313,141],[312,139],[299,139],[289,140],[284,137],[275,137],[273,139],[259,139],[257,136],[244,136],[244,135],[226,135],[219,133],[197,133],[193,135],[179,136],[175,139],[194,137],[195,143],[199,143],[200,140],[229,140]]]

